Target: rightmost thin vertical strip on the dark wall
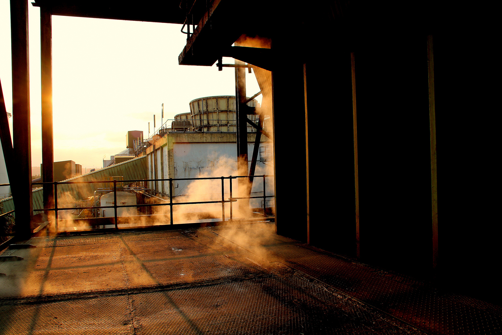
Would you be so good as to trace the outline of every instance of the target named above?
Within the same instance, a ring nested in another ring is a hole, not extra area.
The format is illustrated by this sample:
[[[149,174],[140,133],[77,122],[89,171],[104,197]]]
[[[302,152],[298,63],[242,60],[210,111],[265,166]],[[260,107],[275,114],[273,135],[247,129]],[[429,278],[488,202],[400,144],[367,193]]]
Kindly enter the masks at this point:
[[[431,136],[431,209],[432,209],[432,268],[438,261],[438,191],[436,163],[436,101],[434,94],[434,53],[432,35],[427,36],[427,64],[429,74],[429,123]]]

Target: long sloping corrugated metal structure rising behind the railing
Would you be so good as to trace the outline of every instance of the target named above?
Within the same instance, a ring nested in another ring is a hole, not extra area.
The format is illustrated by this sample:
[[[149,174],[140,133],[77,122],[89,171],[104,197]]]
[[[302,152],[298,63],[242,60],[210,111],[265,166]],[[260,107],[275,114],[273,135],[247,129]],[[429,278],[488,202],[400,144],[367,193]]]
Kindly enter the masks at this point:
[[[108,177],[123,176],[124,180],[147,179],[147,156],[131,159],[127,162],[112,165],[97,171],[92,171],[81,176],[73,177],[65,181],[99,181],[105,180]],[[59,184],[58,183],[58,206],[64,202],[78,201],[87,198],[94,194],[98,188],[106,187],[103,183],[89,184]],[[33,190],[33,208],[43,208],[43,188]],[[11,197],[0,200],[4,205],[4,210],[10,211],[14,209],[14,201]],[[40,211],[35,211],[38,214]]]

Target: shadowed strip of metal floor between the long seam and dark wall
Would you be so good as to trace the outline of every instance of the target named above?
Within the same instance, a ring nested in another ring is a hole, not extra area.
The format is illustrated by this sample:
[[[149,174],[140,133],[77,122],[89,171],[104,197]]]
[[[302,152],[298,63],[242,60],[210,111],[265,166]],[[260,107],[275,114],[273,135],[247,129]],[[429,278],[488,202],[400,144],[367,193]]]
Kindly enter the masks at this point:
[[[266,247],[261,250],[264,259],[301,271],[428,333],[502,333],[500,306],[438,291],[428,283],[337,257],[279,235],[260,237],[257,230],[247,227],[212,230],[229,240],[244,236],[239,241],[250,241],[245,242],[247,245],[259,243]]]

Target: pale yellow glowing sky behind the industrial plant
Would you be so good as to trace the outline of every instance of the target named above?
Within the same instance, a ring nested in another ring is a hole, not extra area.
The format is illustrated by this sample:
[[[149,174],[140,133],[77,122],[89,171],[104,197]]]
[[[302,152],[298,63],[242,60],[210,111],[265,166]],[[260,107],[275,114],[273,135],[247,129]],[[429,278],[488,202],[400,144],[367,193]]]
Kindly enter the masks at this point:
[[[42,163],[40,10],[29,4],[32,166]],[[178,65],[186,44],[181,25],[52,17],[54,160],[82,168],[126,149],[126,133],[143,131],[153,115],[164,122],[189,112],[188,103],[212,95],[234,95],[234,70]],[[0,0],[0,80],[12,113],[9,1]],[[233,59],[223,59],[233,63]],[[246,71],[247,73],[247,71]],[[247,96],[260,88],[246,75]],[[261,102],[261,95],[257,97]],[[15,115],[13,115],[15,118]],[[11,132],[12,132],[12,118]],[[170,124],[170,123],[169,123]]]

